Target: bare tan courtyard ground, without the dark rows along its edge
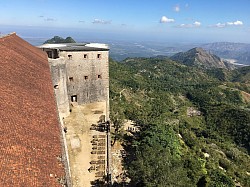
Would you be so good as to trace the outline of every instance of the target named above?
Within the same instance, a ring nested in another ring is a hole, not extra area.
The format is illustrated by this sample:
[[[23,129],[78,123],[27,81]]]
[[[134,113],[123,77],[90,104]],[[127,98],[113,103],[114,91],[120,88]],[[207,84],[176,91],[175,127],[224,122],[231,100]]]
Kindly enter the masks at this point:
[[[105,132],[90,130],[91,125],[96,124],[101,115],[106,115],[106,102],[75,106],[71,114],[64,119],[73,187],[88,187],[91,186],[91,181],[101,178],[95,177],[101,169],[88,171],[93,166],[91,161],[97,161],[98,156],[106,158],[105,154],[91,154],[93,136],[105,135]]]

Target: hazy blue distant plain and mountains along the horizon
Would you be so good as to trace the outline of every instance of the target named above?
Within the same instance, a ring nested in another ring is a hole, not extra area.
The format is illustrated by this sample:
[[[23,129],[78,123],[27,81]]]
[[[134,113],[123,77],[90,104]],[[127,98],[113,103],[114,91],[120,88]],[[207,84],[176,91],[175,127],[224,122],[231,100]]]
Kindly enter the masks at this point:
[[[37,46],[44,43],[45,38],[25,38],[31,44]],[[55,43],[54,37],[47,42]],[[63,38],[59,38],[59,42]],[[67,38],[66,38],[67,39]],[[64,40],[64,39],[63,39]],[[86,39],[77,38],[77,42],[88,42]],[[57,40],[58,42],[58,40]],[[65,41],[64,41],[65,42]],[[73,42],[69,37],[67,43]],[[173,56],[176,53],[184,52],[192,48],[203,48],[209,53],[215,54],[234,63],[250,65],[250,44],[233,42],[215,42],[215,43],[169,43],[156,41],[118,41],[118,40],[98,40],[91,42],[103,42],[110,46],[110,57],[117,61],[122,61],[128,57],[156,57]]]

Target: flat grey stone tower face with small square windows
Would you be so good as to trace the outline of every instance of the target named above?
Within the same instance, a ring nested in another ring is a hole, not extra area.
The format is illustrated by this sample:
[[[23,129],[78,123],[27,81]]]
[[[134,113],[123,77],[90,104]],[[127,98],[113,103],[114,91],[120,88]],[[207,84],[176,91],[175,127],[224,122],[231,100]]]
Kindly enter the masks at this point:
[[[108,102],[108,51],[61,51],[66,62],[69,101]],[[76,98],[72,98],[75,97]]]

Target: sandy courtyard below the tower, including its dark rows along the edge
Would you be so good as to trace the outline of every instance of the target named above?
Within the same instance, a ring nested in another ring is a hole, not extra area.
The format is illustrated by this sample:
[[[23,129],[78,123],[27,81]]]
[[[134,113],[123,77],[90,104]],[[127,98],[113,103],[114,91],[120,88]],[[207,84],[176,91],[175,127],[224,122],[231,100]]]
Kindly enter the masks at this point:
[[[103,115],[106,102],[96,102],[73,106],[64,119],[73,187],[92,186],[105,174],[106,133],[93,129]]]

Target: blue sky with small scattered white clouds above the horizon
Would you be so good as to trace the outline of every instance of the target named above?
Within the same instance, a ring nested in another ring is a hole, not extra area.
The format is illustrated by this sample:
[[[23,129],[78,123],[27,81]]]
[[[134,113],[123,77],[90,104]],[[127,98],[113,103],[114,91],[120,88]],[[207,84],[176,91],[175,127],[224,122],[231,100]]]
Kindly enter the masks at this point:
[[[250,43],[250,0],[0,0],[0,32]]]

